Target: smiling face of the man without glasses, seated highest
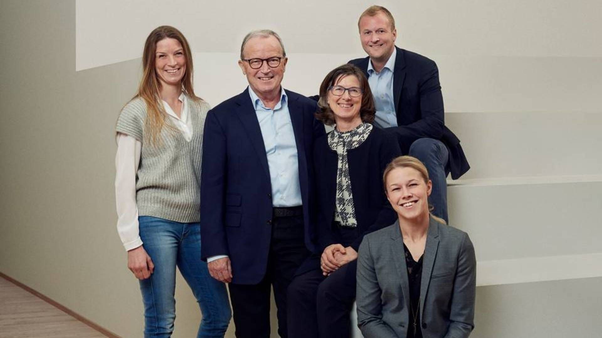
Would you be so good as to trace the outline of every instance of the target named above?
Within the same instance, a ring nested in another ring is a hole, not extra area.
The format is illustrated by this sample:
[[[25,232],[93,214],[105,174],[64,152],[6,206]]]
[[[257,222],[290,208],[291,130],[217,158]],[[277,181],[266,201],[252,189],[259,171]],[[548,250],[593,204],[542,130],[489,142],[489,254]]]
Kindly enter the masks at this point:
[[[388,17],[382,12],[365,15],[359,20],[359,37],[362,48],[372,60],[386,63],[395,49],[397,30],[391,29]]]

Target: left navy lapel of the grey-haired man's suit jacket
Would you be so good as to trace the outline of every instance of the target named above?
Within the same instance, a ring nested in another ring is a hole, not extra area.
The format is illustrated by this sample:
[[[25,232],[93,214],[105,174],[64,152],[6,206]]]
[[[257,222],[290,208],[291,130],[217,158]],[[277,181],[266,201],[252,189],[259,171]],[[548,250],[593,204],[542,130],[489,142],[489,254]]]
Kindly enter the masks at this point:
[[[243,128],[246,130],[247,135],[249,135],[249,141],[253,144],[259,162],[261,162],[261,166],[264,168],[265,174],[268,177],[268,182],[270,182],[270,169],[267,164],[267,155],[265,155],[265,144],[261,135],[261,127],[259,127],[259,121],[257,120],[257,115],[255,113],[255,107],[249,96],[248,87],[247,90],[244,90],[243,93],[238,95],[236,102],[239,105],[236,115],[243,124]]]

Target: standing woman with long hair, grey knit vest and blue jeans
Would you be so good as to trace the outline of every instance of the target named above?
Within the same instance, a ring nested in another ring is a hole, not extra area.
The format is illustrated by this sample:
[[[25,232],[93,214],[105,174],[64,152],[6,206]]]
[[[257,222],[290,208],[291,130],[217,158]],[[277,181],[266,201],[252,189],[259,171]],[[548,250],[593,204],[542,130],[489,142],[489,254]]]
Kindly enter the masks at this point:
[[[144,337],[170,337],[176,266],[199,303],[197,337],[223,337],[225,285],[200,260],[199,184],[209,105],[194,94],[193,60],[178,29],[149,34],[138,93],[117,120],[117,230],[144,303]]]

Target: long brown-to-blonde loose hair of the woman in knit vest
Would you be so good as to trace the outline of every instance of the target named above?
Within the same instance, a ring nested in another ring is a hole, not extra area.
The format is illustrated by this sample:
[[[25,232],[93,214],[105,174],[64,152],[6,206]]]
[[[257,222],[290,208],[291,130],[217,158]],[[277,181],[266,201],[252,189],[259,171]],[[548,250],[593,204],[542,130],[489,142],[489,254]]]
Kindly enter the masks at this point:
[[[184,35],[182,35],[182,32],[172,26],[159,26],[155,28],[146,38],[146,42],[144,43],[144,51],[142,53],[142,79],[140,80],[140,85],[138,85],[138,93],[134,96],[134,99],[136,97],[141,97],[146,103],[146,120],[144,121],[144,128],[151,136],[149,140],[150,143],[154,145],[160,143],[159,135],[164,126],[167,125],[169,128],[173,128],[167,122],[167,112],[161,103],[159,94],[161,91],[161,82],[155,71],[155,52],[157,51],[157,43],[164,38],[175,38],[180,45],[182,45],[186,58],[186,70],[182,77],[182,90],[192,100],[200,100],[199,97],[194,95],[194,72],[192,54],[190,52],[188,41]]]

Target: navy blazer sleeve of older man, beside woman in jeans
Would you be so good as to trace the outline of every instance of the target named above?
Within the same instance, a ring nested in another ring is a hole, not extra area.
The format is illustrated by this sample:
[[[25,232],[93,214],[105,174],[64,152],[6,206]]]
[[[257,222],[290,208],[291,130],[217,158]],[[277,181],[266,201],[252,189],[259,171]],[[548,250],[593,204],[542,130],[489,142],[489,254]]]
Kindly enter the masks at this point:
[[[226,189],[226,135],[216,112],[205,119],[200,174],[201,259],[229,255],[223,224]]]

